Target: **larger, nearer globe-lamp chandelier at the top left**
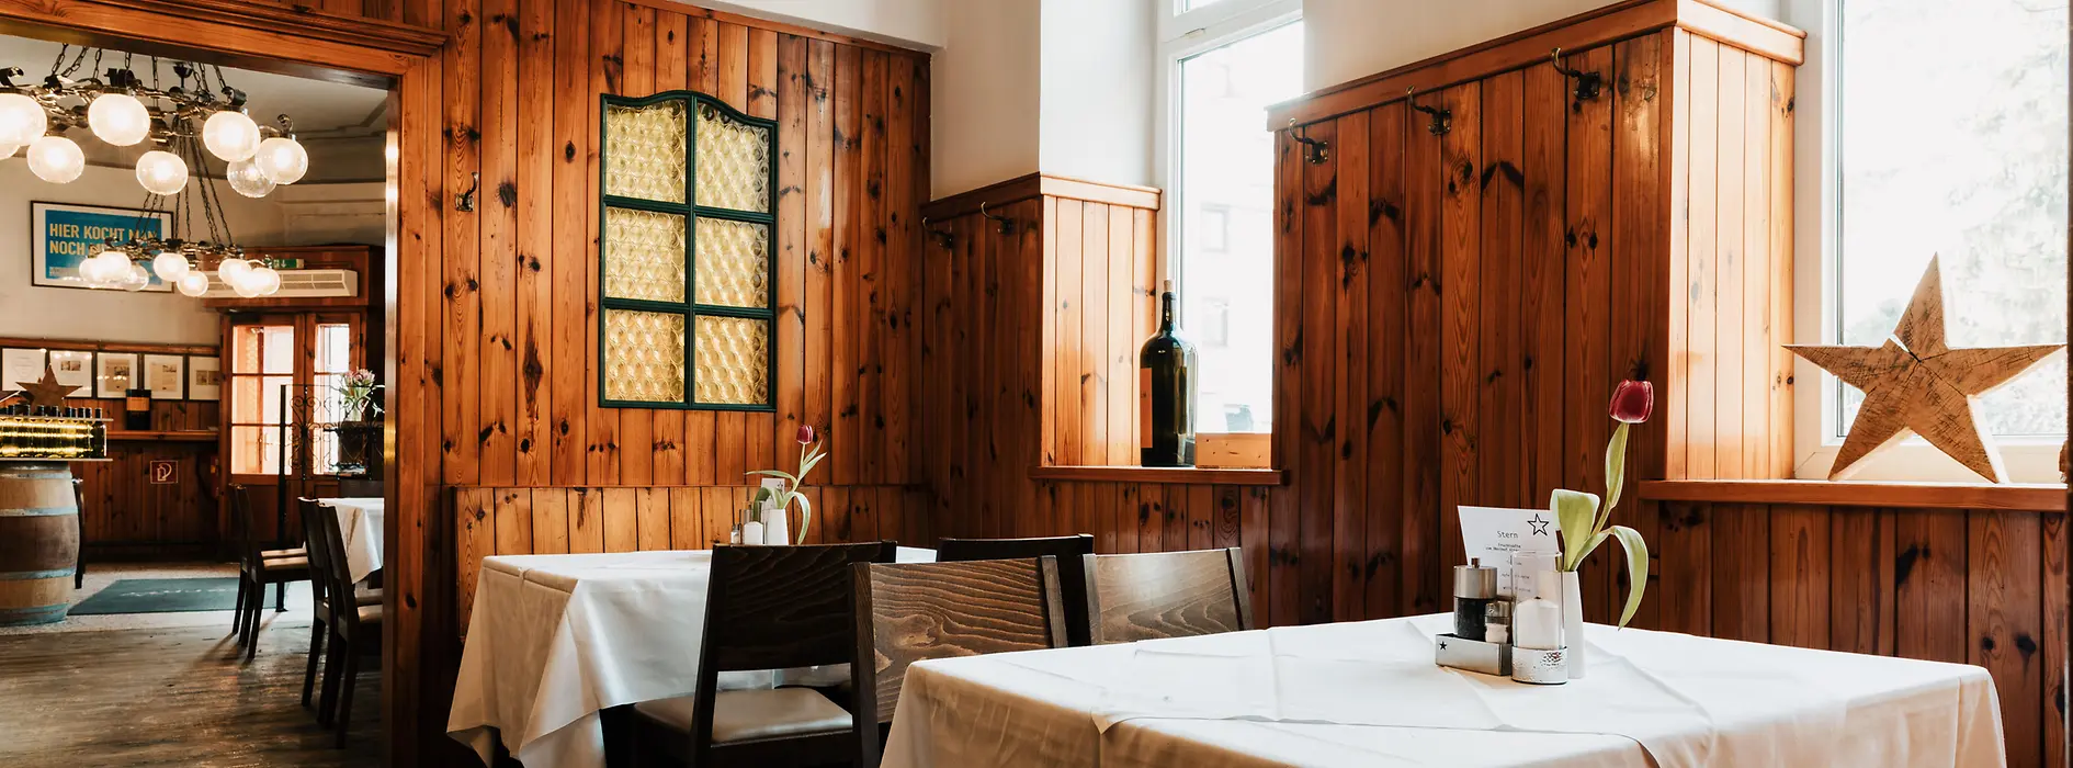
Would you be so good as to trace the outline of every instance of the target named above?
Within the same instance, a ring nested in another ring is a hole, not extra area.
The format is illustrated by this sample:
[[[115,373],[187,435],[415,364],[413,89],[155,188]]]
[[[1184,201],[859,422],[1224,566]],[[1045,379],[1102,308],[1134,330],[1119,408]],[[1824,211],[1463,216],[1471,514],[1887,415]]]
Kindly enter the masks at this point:
[[[87,54],[93,56],[91,73],[104,75],[73,79]],[[133,54],[122,54],[122,66],[102,68],[104,54],[97,48],[75,54],[73,46],[62,46],[41,85],[15,83],[23,77],[19,66],[0,68],[0,160],[27,147],[37,179],[70,183],[87,158],[64,133],[85,127],[118,147],[149,139],[155,149],[137,158],[137,183],[153,195],[187,187],[189,158],[170,152],[178,139],[201,139],[209,154],[228,162],[224,176],[245,197],[265,197],[276,185],[292,185],[309,172],[309,152],[294,141],[294,122],[286,114],[276,118],[278,127],[253,122],[245,114],[245,91],[224,83],[222,66],[174,62],[180,83],[160,87],[158,58],[149,60],[151,81],[145,83],[131,68]]]

